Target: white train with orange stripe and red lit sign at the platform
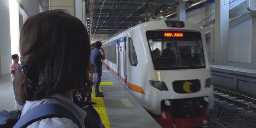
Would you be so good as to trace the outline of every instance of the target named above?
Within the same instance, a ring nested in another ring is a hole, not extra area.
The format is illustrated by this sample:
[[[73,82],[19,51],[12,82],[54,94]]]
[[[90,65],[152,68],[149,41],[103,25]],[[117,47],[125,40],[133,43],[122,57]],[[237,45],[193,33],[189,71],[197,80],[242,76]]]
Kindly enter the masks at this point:
[[[207,123],[213,85],[201,27],[160,20],[103,43],[103,64],[163,128]]]

